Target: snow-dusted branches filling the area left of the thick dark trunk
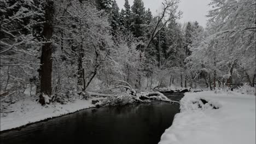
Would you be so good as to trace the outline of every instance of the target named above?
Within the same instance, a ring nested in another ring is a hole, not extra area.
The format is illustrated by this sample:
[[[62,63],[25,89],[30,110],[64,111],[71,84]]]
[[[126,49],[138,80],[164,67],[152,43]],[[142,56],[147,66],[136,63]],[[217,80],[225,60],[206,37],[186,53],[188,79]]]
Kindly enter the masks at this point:
[[[8,0],[1,1],[0,7],[1,95],[15,95],[38,85],[37,57],[42,43],[36,27],[42,28],[43,6],[38,1]]]

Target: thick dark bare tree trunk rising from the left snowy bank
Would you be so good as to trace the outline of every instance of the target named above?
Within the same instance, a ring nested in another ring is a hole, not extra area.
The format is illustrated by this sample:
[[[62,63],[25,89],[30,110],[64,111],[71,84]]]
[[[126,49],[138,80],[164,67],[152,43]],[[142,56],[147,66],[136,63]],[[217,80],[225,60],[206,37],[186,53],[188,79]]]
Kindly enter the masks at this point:
[[[45,2],[45,23],[43,27],[43,36],[46,41],[42,46],[42,55],[40,58],[40,96],[39,103],[41,105],[49,104],[51,98],[51,72],[52,72],[52,48],[51,48],[51,37],[53,35],[53,17],[54,17],[54,1],[46,0]],[[48,97],[48,98],[46,98]]]

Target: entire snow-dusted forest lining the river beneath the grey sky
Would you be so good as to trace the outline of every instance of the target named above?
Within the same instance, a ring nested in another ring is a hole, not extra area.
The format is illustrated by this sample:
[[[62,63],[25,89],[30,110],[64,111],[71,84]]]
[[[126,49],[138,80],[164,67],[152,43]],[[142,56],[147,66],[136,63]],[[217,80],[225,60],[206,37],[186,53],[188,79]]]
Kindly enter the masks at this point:
[[[178,4],[153,16],[142,0],[1,1],[1,101],[255,86],[255,1],[212,1],[206,27],[178,22]]]

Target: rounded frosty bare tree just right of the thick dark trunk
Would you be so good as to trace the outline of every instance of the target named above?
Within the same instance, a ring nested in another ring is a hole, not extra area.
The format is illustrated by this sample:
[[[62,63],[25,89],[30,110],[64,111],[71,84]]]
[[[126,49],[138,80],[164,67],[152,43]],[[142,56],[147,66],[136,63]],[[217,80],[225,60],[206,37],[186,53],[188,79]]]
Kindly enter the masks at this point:
[[[57,46],[62,47],[61,41],[65,40],[62,55],[72,62],[71,66],[75,64],[78,92],[85,91],[103,67],[113,44],[108,15],[90,1],[64,1],[56,19],[56,31],[64,33],[56,35]]]

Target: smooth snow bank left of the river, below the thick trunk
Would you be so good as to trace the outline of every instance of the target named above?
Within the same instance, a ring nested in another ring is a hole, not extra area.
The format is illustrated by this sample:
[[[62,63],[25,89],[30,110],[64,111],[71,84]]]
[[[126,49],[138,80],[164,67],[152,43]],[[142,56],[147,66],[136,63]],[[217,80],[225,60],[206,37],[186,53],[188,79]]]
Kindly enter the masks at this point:
[[[94,106],[95,105],[91,104],[91,100],[80,99],[65,105],[55,103],[54,105],[41,106],[35,100],[26,98],[9,106],[11,107],[10,111],[14,112],[8,113],[8,115],[4,115],[4,113],[1,112],[0,131],[18,128],[22,125],[66,115],[67,113],[72,113]]]

